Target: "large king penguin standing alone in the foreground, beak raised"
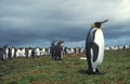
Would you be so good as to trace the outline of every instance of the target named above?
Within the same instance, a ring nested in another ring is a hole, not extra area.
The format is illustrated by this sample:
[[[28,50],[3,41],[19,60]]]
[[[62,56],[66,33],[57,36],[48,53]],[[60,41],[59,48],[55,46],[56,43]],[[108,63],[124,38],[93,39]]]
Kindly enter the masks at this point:
[[[88,74],[103,74],[98,67],[103,62],[104,58],[104,34],[101,26],[108,22],[96,22],[92,24],[86,39],[86,55],[88,61]]]

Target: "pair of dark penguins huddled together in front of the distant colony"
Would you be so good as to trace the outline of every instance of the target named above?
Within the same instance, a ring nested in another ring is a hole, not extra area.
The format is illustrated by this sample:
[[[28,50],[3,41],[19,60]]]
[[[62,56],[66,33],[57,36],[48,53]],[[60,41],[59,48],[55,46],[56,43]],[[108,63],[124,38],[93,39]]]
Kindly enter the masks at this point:
[[[63,51],[64,51],[64,41],[60,40],[56,44],[55,41],[53,40],[51,43],[51,54],[52,54],[52,59],[54,60],[62,60],[63,59]]]

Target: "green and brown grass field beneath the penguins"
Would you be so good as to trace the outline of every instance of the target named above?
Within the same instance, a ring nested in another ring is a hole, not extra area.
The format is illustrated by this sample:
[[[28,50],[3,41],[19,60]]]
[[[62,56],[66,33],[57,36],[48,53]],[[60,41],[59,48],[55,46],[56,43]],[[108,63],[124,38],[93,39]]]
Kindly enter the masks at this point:
[[[107,51],[100,70],[88,75],[84,54],[66,55],[63,60],[50,56],[0,60],[0,84],[130,84],[130,50]]]

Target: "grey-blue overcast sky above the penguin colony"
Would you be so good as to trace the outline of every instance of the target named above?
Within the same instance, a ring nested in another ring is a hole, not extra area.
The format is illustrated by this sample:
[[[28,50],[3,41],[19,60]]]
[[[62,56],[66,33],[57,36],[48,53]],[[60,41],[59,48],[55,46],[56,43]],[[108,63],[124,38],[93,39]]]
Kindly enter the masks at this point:
[[[84,46],[92,23],[105,45],[130,45],[130,0],[0,0],[0,46]]]

